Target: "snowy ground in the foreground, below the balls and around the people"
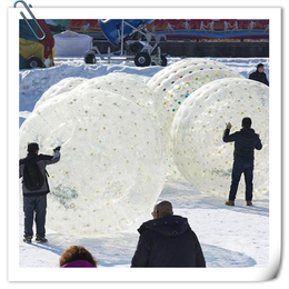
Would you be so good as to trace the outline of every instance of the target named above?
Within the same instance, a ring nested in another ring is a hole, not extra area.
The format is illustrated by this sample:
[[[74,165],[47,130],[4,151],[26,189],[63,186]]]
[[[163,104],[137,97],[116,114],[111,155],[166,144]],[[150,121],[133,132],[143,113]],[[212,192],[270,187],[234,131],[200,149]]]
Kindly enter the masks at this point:
[[[188,218],[201,243],[207,267],[266,267],[269,262],[269,202],[255,201],[246,207],[242,193],[235,207],[223,199],[207,197],[185,179],[167,179],[159,201],[173,203],[176,215]],[[49,212],[48,212],[49,213]],[[58,267],[59,258],[70,245],[82,245],[99,260],[99,267],[130,267],[141,222],[109,236],[77,238],[48,229],[48,243],[22,242],[23,213],[20,208],[20,267]]]

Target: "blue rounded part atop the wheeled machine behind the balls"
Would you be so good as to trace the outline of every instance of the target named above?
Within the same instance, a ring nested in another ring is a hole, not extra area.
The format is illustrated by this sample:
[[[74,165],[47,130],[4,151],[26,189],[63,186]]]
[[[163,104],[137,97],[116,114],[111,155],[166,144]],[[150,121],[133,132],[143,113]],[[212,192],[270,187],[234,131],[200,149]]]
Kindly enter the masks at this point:
[[[103,34],[106,36],[108,41],[114,47],[119,47],[121,42],[121,20],[122,19],[106,19],[106,20],[99,19],[98,20]],[[132,32],[133,28],[138,28],[143,23],[150,23],[155,19],[123,19],[123,20],[124,20],[123,38],[126,38]],[[130,26],[128,26],[126,22],[129,23]]]

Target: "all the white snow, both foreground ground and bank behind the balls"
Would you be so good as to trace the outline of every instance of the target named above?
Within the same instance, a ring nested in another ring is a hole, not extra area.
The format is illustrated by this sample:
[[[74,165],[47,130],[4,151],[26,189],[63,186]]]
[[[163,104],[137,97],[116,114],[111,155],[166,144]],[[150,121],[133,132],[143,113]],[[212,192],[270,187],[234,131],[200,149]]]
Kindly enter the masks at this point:
[[[169,58],[168,60],[168,64],[172,64],[180,58]],[[229,58],[213,60],[225,63],[245,78],[248,78],[248,74],[256,70],[257,63],[262,62],[269,79],[269,59]],[[29,117],[40,97],[61,80],[66,83],[68,78],[92,79],[113,72],[126,72],[147,83],[153,74],[162,69],[162,67],[137,68],[132,62],[127,61],[110,64],[98,61],[96,66],[87,66],[81,58],[59,58],[56,59],[56,67],[53,68],[20,70],[20,126]],[[73,80],[71,83],[73,83]],[[67,90],[67,87],[64,90]],[[58,94],[58,91],[54,92]],[[49,100],[44,101],[49,102]],[[227,207],[223,205],[225,198],[206,196],[185,178],[178,177],[178,179],[167,177],[158,201],[171,201],[175,213],[188,218],[191,228],[200,240],[208,267],[268,266],[268,199],[253,200],[253,207],[246,207],[243,191],[239,190],[236,206]],[[138,242],[137,228],[150,218],[148,210],[147,216],[136,220],[126,230],[87,238],[71,237],[47,227],[48,243],[32,242],[32,245],[27,245],[22,242],[23,212],[20,202],[19,266],[22,268],[58,267],[59,258],[66,248],[71,245],[83,245],[99,260],[99,267],[129,267]]]

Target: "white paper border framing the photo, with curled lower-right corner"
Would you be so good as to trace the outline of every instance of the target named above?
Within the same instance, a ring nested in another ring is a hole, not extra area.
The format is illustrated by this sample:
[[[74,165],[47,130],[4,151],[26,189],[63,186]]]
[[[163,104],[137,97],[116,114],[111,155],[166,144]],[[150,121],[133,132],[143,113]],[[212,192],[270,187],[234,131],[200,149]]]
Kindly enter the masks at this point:
[[[19,6],[20,7],[20,6]],[[8,9],[8,279],[9,281],[265,281],[281,258],[281,9],[280,8],[33,8],[38,19],[269,19],[270,229],[267,268],[60,268],[19,267],[19,19]],[[73,270],[73,272],[74,272]]]

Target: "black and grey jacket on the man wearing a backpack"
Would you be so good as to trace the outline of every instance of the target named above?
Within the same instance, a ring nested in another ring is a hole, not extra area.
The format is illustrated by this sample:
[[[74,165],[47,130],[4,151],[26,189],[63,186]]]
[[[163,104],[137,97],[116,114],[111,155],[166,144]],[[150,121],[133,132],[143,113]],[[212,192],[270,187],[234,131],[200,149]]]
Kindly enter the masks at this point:
[[[43,196],[49,193],[49,185],[48,185],[48,180],[47,180],[47,171],[46,171],[46,167],[48,165],[52,165],[56,163],[60,160],[60,152],[56,151],[54,156],[47,156],[47,155],[28,155],[24,159],[20,159],[19,160],[19,178],[23,177],[23,172],[24,172],[24,166],[26,162],[29,160],[29,158],[34,158],[36,162],[40,169],[40,172],[42,173],[43,178],[44,178],[44,183],[42,185],[42,187],[37,190],[37,191],[30,191],[27,187],[24,181],[22,180],[22,191],[23,191],[23,196],[24,197],[38,197],[38,196]]]

